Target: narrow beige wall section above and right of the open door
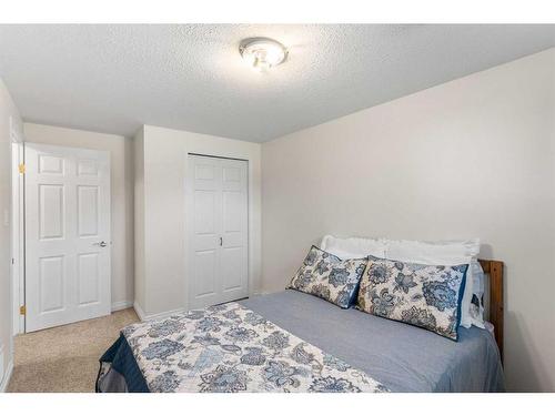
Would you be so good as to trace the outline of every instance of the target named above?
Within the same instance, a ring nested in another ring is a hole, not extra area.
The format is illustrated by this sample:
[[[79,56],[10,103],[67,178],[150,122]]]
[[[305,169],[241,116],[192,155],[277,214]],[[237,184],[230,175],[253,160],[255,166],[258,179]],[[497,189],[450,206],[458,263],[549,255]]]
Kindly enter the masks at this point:
[[[133,142],[121,135],[24,123],[26,141],[110,152],[112,308],[133,303]]]

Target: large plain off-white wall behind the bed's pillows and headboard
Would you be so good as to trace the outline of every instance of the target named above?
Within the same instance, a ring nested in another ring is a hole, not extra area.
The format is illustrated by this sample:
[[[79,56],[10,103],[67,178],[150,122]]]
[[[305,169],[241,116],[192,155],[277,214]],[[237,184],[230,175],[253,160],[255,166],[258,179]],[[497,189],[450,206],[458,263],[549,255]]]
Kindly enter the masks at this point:
[[[555,49],[264,143],[263,288],[322,235],[480,236],[512,390],[555,390]]]

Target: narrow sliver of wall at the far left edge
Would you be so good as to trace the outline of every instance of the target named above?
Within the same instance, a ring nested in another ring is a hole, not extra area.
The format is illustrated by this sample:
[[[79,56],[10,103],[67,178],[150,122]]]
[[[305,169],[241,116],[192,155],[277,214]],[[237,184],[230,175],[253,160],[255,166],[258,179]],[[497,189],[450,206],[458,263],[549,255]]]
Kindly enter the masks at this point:
[[[0,392],[6,387],[12,365],[12,302],[11,302],[11,124],[21,136],[22,126],[18,109],[0,79]],[[8,220],[8,223],[6,221]]]

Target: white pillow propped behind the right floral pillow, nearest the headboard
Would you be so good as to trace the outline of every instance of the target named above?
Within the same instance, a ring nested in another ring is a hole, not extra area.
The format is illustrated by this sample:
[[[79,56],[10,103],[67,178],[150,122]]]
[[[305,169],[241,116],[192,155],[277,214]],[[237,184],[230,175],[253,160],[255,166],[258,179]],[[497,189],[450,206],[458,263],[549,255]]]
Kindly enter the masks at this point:
[[[471,314],[475,278],[478,278],[482,271],[476,260],[480,239],[445,242],[389,240],[386,246],[385,257],[390,260],[445,266],[470,264],[461,306],[461,325],[466,328],[472,325],[484,327],[483,319],[481,322],[480,316]]]

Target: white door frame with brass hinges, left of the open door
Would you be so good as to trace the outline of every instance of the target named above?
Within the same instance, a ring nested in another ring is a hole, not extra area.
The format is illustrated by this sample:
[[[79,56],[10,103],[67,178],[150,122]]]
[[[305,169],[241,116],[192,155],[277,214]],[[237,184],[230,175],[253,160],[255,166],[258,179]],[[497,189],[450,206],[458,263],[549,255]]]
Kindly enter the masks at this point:
[[[26,332],[26,316],[20,314],[20,306],[26,304],[24,175],[19,170],[24,164],[24,143],[13,125],[10,138],[12,335],[18,335]]]

